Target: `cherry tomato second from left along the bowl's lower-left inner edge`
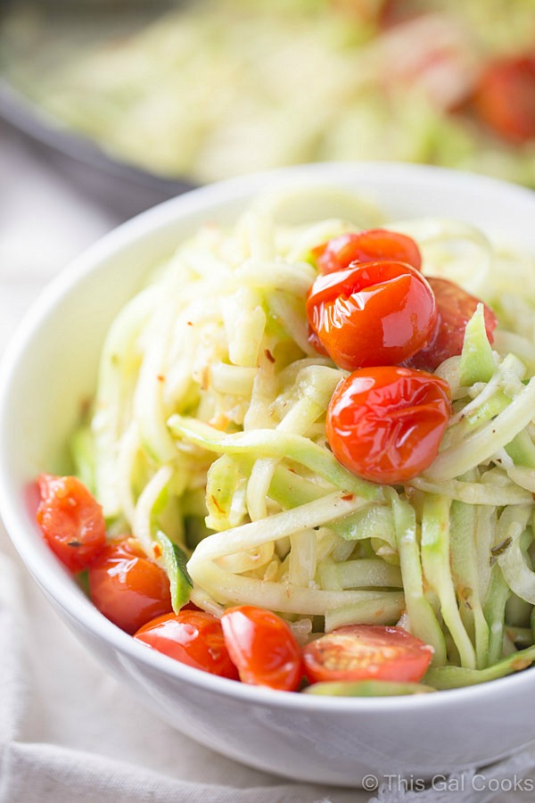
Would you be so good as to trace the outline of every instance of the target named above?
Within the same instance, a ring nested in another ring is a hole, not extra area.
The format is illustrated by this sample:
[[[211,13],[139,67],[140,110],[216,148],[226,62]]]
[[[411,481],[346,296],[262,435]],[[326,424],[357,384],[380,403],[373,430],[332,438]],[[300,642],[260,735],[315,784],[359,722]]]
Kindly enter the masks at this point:
[[[135,538],[111,542],[97,555],[89,567],[89,594],[96,608],[127,633],[172,609],[168,575]]]

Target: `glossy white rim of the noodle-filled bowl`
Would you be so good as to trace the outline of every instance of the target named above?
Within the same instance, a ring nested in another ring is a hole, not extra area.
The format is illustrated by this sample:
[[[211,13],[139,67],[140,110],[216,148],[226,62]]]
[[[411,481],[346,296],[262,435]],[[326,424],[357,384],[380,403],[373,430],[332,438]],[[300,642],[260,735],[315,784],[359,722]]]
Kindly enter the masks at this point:
[[[13,481],[10,476],[9,455],[4,449],[4,433],[9,427],[9,401],[10,388],[17,376],[20,365],[23,364],[25,352],[38,335],[40,327],[49,318],[55,305],[62,297],[69,294],[78,285],[81,279],[91,274],[105,259],[111,259],[119,254],[123,248],[130,246],[145,237],[155,236],[161,228],[169,226],[173,220],[187,219],[195,212],[221,207],[222,203],[230,201],[246,202],[252,195],[262,189],[268,182],[279,179],[311,180],[317,184],[321,182],[335,185],[337,180],[350,178],[351,181],[373,180],[375,185],[391,184],[405,181],[411,186],[476,191],[481,193],[499,193],[506,195],[512,202],[529,203],[535,211],[535,194],[523,186],[508,184],[497,178],[479,176],[465,173],[460,170],[449,170],[427,165],[414,165],[389,161],[376,162],[319,162],[312,165],[298,165],[279,170],[268,170],[253,173],[247,176],[230,178],[207,186],[195,188],[184,195],[178,195],[169,201],[158,204],[148,211],[144,211],[135,218],[114,228],[108,234],[91,245],[70,265],[62,269],[53,280],[45,286],[37,300],[31,304],[21,323],[12,335],[7,345],[3,359],[0,363],[0,515],[4,526],[12,539],[15,549],[19,552],[23,563],[30,574],[41,585],[45,592],[55,600],[65,615],[76,618],[81,625],[93,636],[102,639],[113,650],[140,662],[148,669],[157,670],[168,680],[192,683],[194,686],[221,694],[235,700],[254,703],[269,708],[288,708],[311,712],[313,710],[329,710],[335,713],[357,714],[360,712],[407,712],[429,710],[441,707],[443,701],[449,706],[465,706],[468,701],[480,703],[488,699],[492,690],[504,692],[521,691],[528,684],[535,682],[535,666],[523,672],[507,675],[493,681],[465,686],[459,689],[450,689],[445,694],[416,694],[394,697],[321,697],[312,694],[288,693],[275,691],[246,683],[236,683],[226,678],[210,675],[190,666],[185,666],[173,658],[169,658],[156,650],[148,648],[141,642],[136,642],[128,633],[124,633],[112,625],[109,620],[95,608],[89,599],[79,592],[78,586],[70,574],[59,561],[45,547],[43,542],[39,547],[48,553],[35,549],[36,534],[26,532],[22,526],[24,511],[15,501],[16,495],[12,493]],[[22,537],[20,532],[22,531]],[[13,534],[17,533],[17,537]],[[37,533],[37,526],[36,526]],[[53,583],[50,580],[53,579]]]

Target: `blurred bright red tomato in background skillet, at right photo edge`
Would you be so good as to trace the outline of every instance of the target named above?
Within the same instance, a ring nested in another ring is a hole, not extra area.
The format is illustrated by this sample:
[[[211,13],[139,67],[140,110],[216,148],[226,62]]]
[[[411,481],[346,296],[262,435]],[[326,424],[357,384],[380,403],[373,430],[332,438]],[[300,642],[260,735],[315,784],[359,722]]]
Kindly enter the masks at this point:
[[[514,145],[535,138],[535,54],[503,58],[483,71],[473,105],[500,137]]]

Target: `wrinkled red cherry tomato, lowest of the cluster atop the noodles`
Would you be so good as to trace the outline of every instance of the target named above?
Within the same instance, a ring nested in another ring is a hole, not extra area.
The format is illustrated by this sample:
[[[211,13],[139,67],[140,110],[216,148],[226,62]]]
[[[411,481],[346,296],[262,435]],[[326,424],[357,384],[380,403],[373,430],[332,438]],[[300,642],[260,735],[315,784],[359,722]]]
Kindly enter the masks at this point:
[[[327,410],[327,439],[345,468],[399,484],[431,465],[451,415],[449,385],[399,366],[361,368],[343,379]]]

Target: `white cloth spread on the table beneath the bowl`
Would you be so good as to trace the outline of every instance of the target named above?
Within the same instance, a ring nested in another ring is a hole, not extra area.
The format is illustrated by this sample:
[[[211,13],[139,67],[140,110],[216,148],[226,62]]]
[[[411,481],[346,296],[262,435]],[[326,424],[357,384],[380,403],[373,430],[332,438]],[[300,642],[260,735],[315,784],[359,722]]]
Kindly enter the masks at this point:
[[[0,128],[0,349],[45,282],[118,220]],[[286,782],[218,756],[106,674],[0,525],[0,803],[364,803],[372,793],[381,803],[498,803],[535,799],[534,767],[535,753],[523,753],[439,788],[419,791],[413,779],[411,791],[385,775],[378,791],[358,791]]]

